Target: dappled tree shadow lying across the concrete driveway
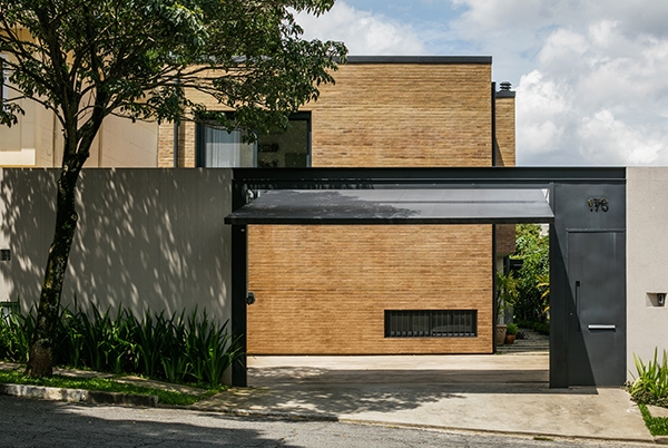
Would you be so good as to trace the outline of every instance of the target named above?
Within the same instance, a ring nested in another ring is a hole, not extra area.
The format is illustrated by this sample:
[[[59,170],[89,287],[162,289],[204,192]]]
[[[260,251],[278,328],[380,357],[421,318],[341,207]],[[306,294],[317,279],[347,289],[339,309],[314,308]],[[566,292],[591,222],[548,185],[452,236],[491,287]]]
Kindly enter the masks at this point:
[[[335,419],[360,412],[396,412],[471,395],[597,395],[596,388],[550,389],[548,371],[249,369],[249,388],[232,389],[196,407],[217,410],[310,412]],[[441,406],[441,405],[438,405]]]

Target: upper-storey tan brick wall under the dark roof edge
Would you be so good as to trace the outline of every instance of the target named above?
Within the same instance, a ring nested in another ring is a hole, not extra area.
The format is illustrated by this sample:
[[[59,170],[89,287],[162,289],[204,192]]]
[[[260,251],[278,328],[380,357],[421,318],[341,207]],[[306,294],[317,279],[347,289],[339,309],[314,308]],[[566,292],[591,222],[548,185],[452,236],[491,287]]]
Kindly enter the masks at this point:
[[[303,108],[314,167],[491,166],[491,65],[353,64],[334,76]]]

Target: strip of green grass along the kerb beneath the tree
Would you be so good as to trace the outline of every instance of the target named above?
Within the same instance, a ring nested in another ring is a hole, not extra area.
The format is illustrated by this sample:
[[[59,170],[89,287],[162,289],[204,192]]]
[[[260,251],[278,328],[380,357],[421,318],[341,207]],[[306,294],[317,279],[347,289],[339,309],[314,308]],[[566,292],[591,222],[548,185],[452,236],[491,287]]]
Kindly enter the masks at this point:
[[[29,378],[18,370],[0,371],[0,383],[31,384],[66,389],[99,390],[104,392],[120,392],[130,395],[157,396],[163,405],[188,406],[210,397],[223,389],[208,389],[204,393],[193,395],[171,390],[154,389],[143,386],[128,384],[110,378],[72,378],[52,376],[46,378]]]

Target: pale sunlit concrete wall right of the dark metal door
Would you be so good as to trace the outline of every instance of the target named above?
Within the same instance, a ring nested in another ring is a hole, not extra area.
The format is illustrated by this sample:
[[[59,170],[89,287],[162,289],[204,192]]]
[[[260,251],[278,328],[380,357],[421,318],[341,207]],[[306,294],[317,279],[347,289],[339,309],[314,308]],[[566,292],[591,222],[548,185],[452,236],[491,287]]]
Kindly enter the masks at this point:
[[[627,168],[627,366],[668,350],[668,168]],[[630,379],[630,373],[629,373]]]

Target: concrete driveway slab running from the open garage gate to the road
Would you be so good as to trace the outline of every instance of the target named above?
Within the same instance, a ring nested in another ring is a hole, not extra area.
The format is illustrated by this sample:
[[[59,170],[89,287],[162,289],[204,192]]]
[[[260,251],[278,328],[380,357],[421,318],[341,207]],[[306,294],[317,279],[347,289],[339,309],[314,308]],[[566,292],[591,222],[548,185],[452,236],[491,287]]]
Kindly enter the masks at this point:
[[[208,410],[315,416],[442,429],[654,441],[622,389],[549,389],[546,353],[256,357],[247,389]]]

